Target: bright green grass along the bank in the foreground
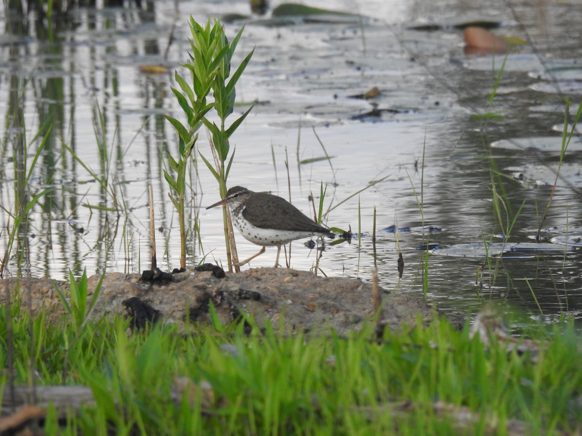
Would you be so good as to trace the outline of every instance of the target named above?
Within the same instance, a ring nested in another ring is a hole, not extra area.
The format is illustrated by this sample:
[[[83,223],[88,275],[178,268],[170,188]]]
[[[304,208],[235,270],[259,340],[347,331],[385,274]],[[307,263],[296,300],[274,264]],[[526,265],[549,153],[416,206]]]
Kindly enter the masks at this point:
[[[12,311],[15,384],[32,380],[32,345],[37,385],[93,393],[94,405],[76,411],[49,407],[47,434],[548,434],[582,426],[572,321],[530,332],[551,339],[518,353],[445,320],[378,339],[371,325],[346,337],[289,337],[276,326],[244,334],[243,323],[132,334],[115,317],[87,323],[73,341],[66,316],[49,323],[42,311],[30,335],[17,300]],[[7,316],[3,306],[0,326]],[[0,339],[3,367],[6,349]],[[6,371],[0,377],[4,416],[10,387]]]

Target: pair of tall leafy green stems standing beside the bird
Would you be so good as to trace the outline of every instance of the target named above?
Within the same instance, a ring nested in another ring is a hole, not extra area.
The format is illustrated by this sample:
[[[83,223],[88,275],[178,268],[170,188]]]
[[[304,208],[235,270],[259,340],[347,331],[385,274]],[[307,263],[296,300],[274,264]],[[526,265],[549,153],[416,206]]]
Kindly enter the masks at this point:
[[[236,45],[243,33],[240,29],[232,42],[228,41],[224,33],[224,28],[219,20],[214,20],[211,24],[210,18],[205,26],[198,24],[193,17],[190,17],[190,59],[183,67],[190,72],[190,82],[187,83],[177,72],[176,82],[180,90],[172,88],[178,103],[187,117],[187,124],[182,124],[177,119],[166,116],[172,123],[179,137],[179,156],[173,158],[168,153],[170,167],[173,171],[170,174],[164,171],[164,176],[173,194],[170,195],[173,205],[178,210],[180,217],[180,243],[181,255],[180,266],[186,267],[186,228],[184,225],[184,196],[186,194],[186,165],[187,160],[192,156],[192,149],[198,135],[196,132],[204,123],[211,132],[212,153],[216,167],[213,167],[204,156],[201,155],[204,163],[218,180],[222,198],[226,195],[226,178],[232,165],[234,153],[230,156],[228,165],[228,153],[230,150],[229,138],[236,128],[249,114],[249,108],[242,116],[235,120],[229,127],[226,127],[226,118],[233,112],[235,107],[235,85],[239,80],[244,68],[249,63],[253,51],[251,51],[243,62],[239,65],[235,73],[230,77],[230,62],[235,53]],[[230,80],[229,80],[230,77]],[[214,102],[208,103],[207,98],[212,90]],[[220,120],[219,124],[211,122],[205,118],[207,113],[214,107]],[[196,158],[194,155],[193,158]],[[226,251],[228,254],[229,269],[232,269],[232,258],[230,255],[230,239],[228,237],[228,215],[226,208],[223,208],[223,219],[225,222]],[[234,241],[232,241],[232,244]]]

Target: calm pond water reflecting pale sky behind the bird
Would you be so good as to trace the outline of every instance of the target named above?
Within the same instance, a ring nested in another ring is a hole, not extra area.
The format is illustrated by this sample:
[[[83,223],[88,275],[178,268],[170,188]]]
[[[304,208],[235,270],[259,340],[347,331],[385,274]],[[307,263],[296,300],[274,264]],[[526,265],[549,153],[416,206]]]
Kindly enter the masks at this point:
[[[325,206],[333,208],[383,179],[327,216],[329,226],[351,227],[354,239],[327,246],[320,265],[325,274],[370,280],[377,265],[386,289],[423,295],[426,251],[419,248],[430,244],[427,299],[439,308],[464,315],[492,299],[526,319],[582,317],[580,248],[512,251],[488,263],[474,256],[474,245],[461,245],[499,244],[504,233],[509,245],[535,244],[559,150],[528,144],[559,144],[565,98],[576,115],[581,2],[515,10],[501,1],[487,8],[453,1],[357,4],[374,19],[282,25],[267,22],[267,14],[247,20],[235,64],[255,52],[237,87],[243,103],[237,109],[258,103],[232,137],[230,185],[288,198],[289,177],[293,203],[309,213],[308,195],[317,200],[322,183]],[[352,5],[335,1],[325,8],[353,12]],[[52,188],[30,210],[28,226],[20,227],[7,274],[61,279],[84,268],[89,274],[147,269],[148,184],[155,195],[158,266],[179,266],[178,219],[163,176],[166,150],[176,155],[177,141],[163,115],[181,115],[170,87],[174,70],[186,75],[178,64],[189,50],[187,17],[205,21],[233,12],[248,15],[247,3],[97,5],[73,10],[54,26],[34,12],[28,19],[1,12],[2,253],[17,197],[29,201]],[[453,27],[474,20],[501,23],[495,33],[529,42],[506,59],[491,103],[503,56],[467,54],[462,30]],[[175,41],[165,56],[174,23]],[[226,24],[227,33],[236,34],[242,23]],[[427,23],[439,26],[415,28]],[[153,64],[168,72],[140,69]],[[372,87],[381,91],[373,102],[350,97]],[[372,103],[381,116],[363,116]],[[487,113],[495,116],[475,117]],[[22,188],[42,138],[44,149]],[[198,149],[210,158],[203,131],[200,138]],[[326,152],[333,156],[329,162],[299,163]],[[582,234],[581,169],[574,135],[541,242]],[[221,213],[205,210],[218,201],[218,188],[201,161],[190,167],[190,185],[188,264],[203,258],[225,264]],[[384,230],[389,226],[399,230]],[[238,246],[243,259],[257,251],[242,238]],[[398,251],[406,264],[402,278]],[[315,255],[303,241],[294,242],[291,266],[310,269]],[[251,266],[272,266],[274,257],[268,249]]]

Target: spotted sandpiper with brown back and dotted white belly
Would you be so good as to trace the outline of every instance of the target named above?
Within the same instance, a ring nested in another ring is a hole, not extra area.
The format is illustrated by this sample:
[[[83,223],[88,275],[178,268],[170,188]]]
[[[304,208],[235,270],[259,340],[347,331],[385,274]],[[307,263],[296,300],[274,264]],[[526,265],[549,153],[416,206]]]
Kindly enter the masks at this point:
[[[320,226],[314,220],[276,195],[253,192],[240,186],[232,187],[223,200],[208,206],[228,205],[230,216],[243,237],[253,244],[262,245],[261,251],[235,266],[242,266],[265,252],[266,246],[277,247],[275,267],[279,266],[281,244],[300,238],[324,235],[333,238],[331,230]]]

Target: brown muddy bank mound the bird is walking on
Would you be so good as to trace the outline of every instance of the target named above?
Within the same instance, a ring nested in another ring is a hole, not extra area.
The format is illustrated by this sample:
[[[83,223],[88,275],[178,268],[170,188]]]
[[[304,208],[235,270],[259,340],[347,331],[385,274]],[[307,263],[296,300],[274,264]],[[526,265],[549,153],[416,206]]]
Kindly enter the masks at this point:
[[[100,278],[88,278],[88,302]],[[54,283],[69,298],[69,283]],[[49,278],[6,278],[0,284],[1,303],[20,289],[23,309],[34,313],[44,307],[52,320],[63,314],[63,305]],[[422,298],[382,288],[378,291],[382,300],[380,322],[389,328],[414,326],[419,318],[428,324],[443,316]],[[195,270],[161,280],[144,280],[140,274],[108,273],[91,317],[123,314],[132,316],[137,327],[152,320],[182,325],[189,319],[205,324],[210,323],[210,303],[225,325],[246,314],[260,327],[267,321],[275,325],[283,322],[287,333],[332,328],[342,334],[360,330],[374,317],[371,283],[269,267],[226,273],[223,278],[215,277],[212,271]]]

